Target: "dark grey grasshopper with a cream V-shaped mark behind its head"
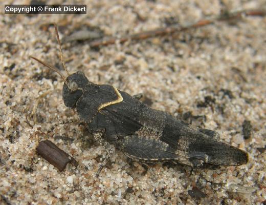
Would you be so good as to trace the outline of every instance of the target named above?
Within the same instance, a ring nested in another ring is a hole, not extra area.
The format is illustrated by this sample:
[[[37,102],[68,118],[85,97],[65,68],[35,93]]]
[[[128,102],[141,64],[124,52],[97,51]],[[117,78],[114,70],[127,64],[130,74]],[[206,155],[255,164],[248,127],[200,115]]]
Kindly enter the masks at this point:
[[[65,68],[56,26],[55,30]],[[69,74],[65,69],[65,78],[57,69],[32,58],[60,74],[64,105],[77,110],[79,120],[106,149],[97,176],[115,148],[142,162],[173,161],[191,167],[238,166],[248,161],[246,152],[218,141],[215,131],[187,125],[113,86],[94,84],[80,71]]]

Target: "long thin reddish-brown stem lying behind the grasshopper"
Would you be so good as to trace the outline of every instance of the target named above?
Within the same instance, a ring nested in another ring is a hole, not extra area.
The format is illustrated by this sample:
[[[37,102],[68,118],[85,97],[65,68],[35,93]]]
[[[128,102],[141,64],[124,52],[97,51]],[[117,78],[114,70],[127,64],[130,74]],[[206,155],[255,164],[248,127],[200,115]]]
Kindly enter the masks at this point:
[[[266,10],[263,10],[263,9],[242,10],[242,11],[237,11],[237,12],[224,12],[218,16],[198,20],[195,23],[169,26],[169,27],[160,28],[156,30],[126,35],[121,38],[108,37],[106,39],[95,40],[91,42],[89,45],[91,48],[93,48],[93,47],[115,44],[116,42],[124,43],[124,42],[127,42],[128,40],[143,40],[143,39],[147,39],[151,37],[170,35],[170,34],[185,31],[188,29],[203,27],[203,26],[210,25],[210,24],[213,24],[214,22],[221,21],[221,20],[239,19],[239,18],[242,18],[243,16],[265,16],[265,15],[266,15]]]

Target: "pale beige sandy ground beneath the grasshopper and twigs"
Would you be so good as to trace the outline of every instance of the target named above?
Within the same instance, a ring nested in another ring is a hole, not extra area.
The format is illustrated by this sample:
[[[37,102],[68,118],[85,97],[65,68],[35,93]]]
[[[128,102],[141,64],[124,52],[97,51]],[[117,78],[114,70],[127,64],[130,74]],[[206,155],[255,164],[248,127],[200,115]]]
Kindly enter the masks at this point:
[[[5,2],[18,4],[23,1]],[[24,1],[29,4],[29,1]],[[47,4],[54,4],[49,1]],[[56,3],[62,3],[57,1]],[[64,4],[68,3],[63,1]],[[94,83],[143,93],[154,109],[216,130],[220,140],[249,153],[247,165],[216,170],[159,163],[147,172],[116,152],[94,177],[106,152],[84,126],[55,129],[49,138],[73,156],[77,168],[59,172],[36,154],[36,130],[76,116],[63,105],[63,80],[34,55],[62,72],[52,23],[61,38],[87,29],[122,36],[194,22],[221,10],[265,7],[265,1],[87,1],[87,14],[0,15],[0,194],[4,204],[265,204],[266,18],[219,22],[140,42],[90,49],[63,44],[66,67]],[[264,4],[264,5],[263,5]],[[48,93],[47,93],[48,92]],[[39,99],[37,125],[31,111]],[[242,126],[250,121],[251,136]]]

